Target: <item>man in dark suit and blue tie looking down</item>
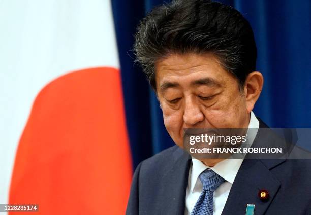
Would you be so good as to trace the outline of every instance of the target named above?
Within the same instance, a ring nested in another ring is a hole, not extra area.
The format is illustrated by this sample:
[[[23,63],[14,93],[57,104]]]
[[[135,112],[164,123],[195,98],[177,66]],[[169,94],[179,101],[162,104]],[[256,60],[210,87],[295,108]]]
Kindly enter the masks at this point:
[[[263,76],[238,11],[203,0],[159,6],[141,21],[134,50],[177,146],[138,165],[127,214],[311,214],[309,161],[198,160],[182,150],[185,128],[255,129],[251,146],[274,142],[252,112]]]

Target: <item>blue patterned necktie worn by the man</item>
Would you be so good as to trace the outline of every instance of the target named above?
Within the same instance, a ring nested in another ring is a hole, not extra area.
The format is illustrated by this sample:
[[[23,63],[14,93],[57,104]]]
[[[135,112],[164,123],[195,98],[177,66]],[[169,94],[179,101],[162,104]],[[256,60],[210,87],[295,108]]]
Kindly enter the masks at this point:
[[[213,215],[214,190],[225,182],[225,180],[221,176],[217,175],[217,173],[213,170],[208,169],[202,172],[199,177],[203,184],[203,191],[194,206],[191,215]]]

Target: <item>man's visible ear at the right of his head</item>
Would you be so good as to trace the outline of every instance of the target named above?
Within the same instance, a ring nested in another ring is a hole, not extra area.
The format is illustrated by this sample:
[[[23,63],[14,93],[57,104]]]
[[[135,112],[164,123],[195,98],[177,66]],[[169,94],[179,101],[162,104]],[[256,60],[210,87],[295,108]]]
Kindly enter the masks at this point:
[[[257,99],[260,96],[263,86],[263,76],[259,71],[253,71],[248,74],[244,84],[244,95],[246,99],[247,113],[251,113]]]

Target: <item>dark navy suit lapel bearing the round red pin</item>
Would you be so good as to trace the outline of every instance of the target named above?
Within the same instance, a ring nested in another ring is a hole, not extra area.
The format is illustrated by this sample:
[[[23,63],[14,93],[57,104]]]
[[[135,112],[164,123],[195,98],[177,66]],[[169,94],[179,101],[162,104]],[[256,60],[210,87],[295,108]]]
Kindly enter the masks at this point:
[[[259,128],[268,128],[260,119],[259,123]],[[268,147],[273,141],[270,135],[259,129],[252,147]],[[255,204],[254,214],[264,214],[281,186],[269,169],[284,161],[285,159],[247,159],[246,156],[232,184],[222,214],[245,214],[247,204]],[[261,189],[269,192],[267,201],[259,198]]]

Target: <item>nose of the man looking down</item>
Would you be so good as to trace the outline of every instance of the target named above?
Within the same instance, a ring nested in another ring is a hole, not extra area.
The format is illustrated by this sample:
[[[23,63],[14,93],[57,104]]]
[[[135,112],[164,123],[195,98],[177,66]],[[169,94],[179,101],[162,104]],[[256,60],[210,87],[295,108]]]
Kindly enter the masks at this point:
[[[204,114],[194,99],[186,99],[183,113],[183,121],[187,126],[196,125],[204,120]]]

